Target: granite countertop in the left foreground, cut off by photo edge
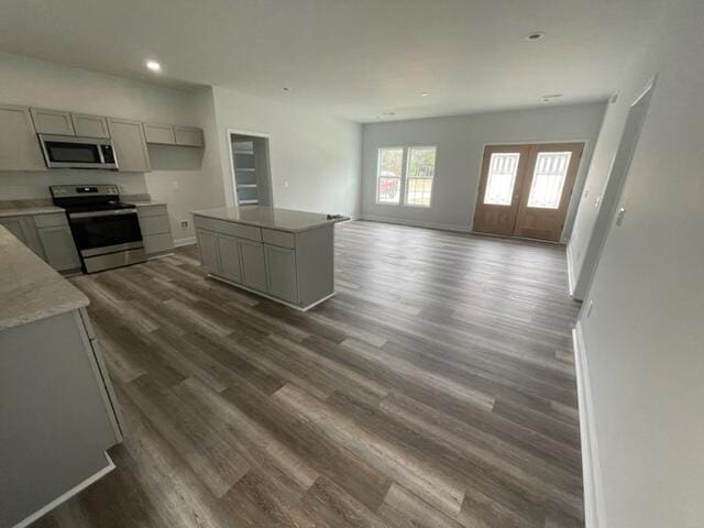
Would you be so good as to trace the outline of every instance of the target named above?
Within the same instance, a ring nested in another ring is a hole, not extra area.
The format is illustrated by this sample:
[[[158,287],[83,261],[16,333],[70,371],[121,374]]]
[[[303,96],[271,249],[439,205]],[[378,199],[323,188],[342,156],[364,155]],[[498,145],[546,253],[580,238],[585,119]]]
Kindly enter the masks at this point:
[[[0,331],[88,305],[88,297],[2,226],[0,262]]]

